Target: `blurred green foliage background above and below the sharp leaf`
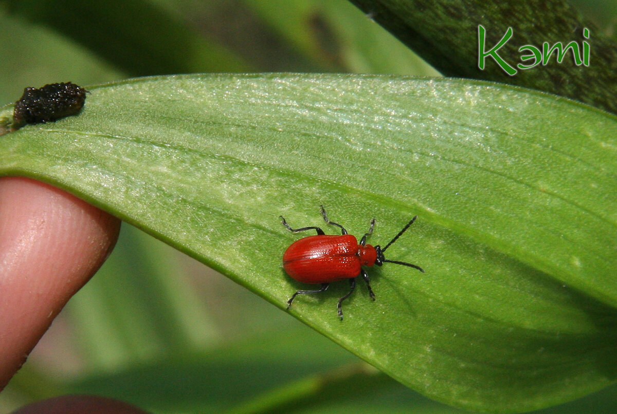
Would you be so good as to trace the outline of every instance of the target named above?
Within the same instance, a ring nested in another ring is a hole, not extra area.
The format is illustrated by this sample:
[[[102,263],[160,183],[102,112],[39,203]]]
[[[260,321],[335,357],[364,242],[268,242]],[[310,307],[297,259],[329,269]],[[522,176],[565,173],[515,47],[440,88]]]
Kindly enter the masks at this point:
[[[577,5],[616,37],[614,1]],[[166,73],[439,76],[346,0],[0,0],[0,27],[0,104],[26,86]],[[613,413],[615,391],[542,413]],[[70,393],[155,413],[461,412],[126,224],[0,395],[0,412]]]

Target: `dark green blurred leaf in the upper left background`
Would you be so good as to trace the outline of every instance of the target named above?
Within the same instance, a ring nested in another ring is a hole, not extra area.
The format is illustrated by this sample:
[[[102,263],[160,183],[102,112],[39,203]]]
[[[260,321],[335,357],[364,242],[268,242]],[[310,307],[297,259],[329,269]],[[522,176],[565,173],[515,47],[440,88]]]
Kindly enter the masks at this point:
[[[7,1],[7,9],[64,34],[133,76],[252,70],[172,10],[148,0]]]

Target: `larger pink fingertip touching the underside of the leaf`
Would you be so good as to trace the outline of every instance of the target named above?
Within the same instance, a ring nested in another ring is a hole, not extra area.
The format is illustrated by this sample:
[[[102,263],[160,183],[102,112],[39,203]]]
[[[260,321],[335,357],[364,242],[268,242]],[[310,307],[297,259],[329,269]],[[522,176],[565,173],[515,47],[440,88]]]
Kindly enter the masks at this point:
[[[63,190],[0,178],[0,389],[109,256],[120,220]]]

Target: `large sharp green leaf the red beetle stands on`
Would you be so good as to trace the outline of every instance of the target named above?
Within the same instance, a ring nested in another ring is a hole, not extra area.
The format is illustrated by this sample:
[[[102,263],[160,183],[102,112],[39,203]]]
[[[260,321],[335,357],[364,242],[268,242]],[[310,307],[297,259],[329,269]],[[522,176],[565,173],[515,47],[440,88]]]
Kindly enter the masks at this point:
[[[51,182],[281,309],[281,268],[318,206],[394,264],[289,310],[459,407],[520,412],[617,373],[616,118],[457,79],[192,75],[88,87],[78,116],[0,139],[0,174]],[[0,110],[0,120],[12,107]]]

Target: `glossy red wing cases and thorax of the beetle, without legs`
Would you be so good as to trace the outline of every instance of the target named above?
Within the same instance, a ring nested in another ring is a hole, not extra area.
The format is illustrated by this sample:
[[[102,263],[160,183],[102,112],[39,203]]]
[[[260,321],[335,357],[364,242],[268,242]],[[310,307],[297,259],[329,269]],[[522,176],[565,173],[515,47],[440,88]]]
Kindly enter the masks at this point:
[[[299,282],[329,283],[357,277],[376,259],[375,248],[358,245],[352,235],[315,235],[294,241],[283,254],[283,267]]]

